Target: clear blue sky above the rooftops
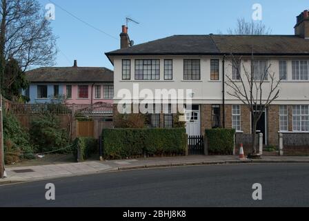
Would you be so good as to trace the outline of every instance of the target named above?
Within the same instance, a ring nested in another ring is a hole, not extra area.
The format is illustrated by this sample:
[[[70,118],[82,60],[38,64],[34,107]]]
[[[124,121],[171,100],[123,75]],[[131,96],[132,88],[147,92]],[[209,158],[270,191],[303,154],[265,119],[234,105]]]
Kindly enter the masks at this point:
[[[105,52],[120,47],[121,26],[130,17],[130,39],[135,44],[170,35],[226,34],[237,19],[252,20],[252,6],[259,3],[262,22],[272,35],[294,35],[296,17],[309,9],[308,0],[39,0],[42,8],[54,3],[51,26],[58,37],[56,66],[106,67]],[[86,22],[86,23],[84,23]]]

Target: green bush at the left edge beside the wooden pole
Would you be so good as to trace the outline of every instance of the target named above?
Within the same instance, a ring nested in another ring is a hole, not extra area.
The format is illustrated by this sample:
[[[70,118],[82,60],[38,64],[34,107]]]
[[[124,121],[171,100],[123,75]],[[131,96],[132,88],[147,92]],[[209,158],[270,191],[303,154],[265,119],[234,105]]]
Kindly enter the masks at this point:
[[[21,126],[17,117],[4,112],[3,144],[6,164],[34,158],[34,149],[30,144],[28,131]]]

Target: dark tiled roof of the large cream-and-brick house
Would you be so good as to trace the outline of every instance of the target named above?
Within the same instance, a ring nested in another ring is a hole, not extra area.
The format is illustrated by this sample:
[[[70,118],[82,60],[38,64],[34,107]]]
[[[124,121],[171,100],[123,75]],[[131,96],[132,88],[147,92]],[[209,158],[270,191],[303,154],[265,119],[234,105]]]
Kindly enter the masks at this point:
[[[309,55],[309,39],[295,35],[173,35],[106,55]]]

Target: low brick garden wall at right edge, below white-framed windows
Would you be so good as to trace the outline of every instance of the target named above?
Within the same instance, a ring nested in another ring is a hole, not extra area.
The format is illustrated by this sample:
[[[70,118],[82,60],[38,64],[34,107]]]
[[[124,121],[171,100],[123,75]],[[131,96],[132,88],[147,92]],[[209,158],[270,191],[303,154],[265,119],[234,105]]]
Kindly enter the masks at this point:
[[[309,155],[309,133],[284,133],[284,155]]]

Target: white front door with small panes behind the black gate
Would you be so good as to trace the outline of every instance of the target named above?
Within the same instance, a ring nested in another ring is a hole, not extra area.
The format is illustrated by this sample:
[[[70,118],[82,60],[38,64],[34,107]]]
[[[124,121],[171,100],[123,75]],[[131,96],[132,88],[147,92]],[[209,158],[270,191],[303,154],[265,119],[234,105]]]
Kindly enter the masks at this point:
[[[201,113],[199,106],[193,105],[194,110],[186,110],[186,131],[188,136],[201,135]]]

